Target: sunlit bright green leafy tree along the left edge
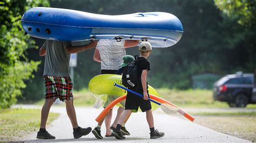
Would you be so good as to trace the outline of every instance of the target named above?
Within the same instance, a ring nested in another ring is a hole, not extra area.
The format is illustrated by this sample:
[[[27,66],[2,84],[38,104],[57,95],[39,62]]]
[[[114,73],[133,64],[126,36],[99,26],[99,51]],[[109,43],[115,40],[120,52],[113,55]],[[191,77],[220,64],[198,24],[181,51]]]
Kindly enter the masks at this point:
[[[24,80],[33,77],[41,62],[29,61],[26,49],[37,48],[35,41],[24,35],[21,26],[23,13],[33,6],[46,5],[48,1],[4,0],[0,2],[0,108],[9,108],[21,95]]]

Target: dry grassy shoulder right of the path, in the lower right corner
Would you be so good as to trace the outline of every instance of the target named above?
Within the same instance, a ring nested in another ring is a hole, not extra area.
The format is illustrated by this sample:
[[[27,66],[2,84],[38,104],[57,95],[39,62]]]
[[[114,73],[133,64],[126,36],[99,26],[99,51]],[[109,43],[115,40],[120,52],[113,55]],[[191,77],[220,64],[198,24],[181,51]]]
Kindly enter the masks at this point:
[[[224,134],[256,141],[255,116],[195,116],[194,123]]]

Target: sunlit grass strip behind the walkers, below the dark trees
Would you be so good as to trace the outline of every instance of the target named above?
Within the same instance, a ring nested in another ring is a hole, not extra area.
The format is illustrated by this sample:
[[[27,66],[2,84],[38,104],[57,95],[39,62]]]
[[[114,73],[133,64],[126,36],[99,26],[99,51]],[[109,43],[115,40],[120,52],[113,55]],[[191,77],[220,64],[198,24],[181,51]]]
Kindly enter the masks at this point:
[[[229,108],[226,102],[214,101],[212,90],[160,88],[157,91],[162,98],[181,108]],[[73,97],[75,106],[92,106],[96,101],[96,98],[90,94],[87,88],[80,91],[73,91]],[[43,105],[43,103],[44,99],[36,104]],[[247,108],[256,108],[256,104],[249,104]]]

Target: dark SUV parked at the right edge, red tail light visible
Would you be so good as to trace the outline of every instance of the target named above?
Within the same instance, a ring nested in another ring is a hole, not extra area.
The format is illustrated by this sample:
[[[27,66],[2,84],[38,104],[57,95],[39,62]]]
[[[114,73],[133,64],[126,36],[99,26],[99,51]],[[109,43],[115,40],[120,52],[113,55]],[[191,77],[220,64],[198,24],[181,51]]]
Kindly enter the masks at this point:
[[[213,84],[213,98],[227,102],[230,107],[246,107],[249,103],[256,103],[253,81],[253,74],[242,74],[241,71],[221,77]]]

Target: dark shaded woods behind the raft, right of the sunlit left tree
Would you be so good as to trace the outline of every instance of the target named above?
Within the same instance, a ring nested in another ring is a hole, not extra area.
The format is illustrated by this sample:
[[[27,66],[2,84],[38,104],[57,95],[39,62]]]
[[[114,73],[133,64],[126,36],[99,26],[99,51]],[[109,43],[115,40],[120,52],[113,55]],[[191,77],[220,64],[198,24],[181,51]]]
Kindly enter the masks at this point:
[[[223,1],[222,4],[228,2],[234,1]],[[62,0],[50,1],[50,3],[55,8],[104,15],[163,11],[177,16],[184,27],[181,40],[169,48],[153,49],[149,57],[151,61],[149,83],[153,87],[187,89],[192,87],[192,75],[204,73],[224,75],[235,71],[252,73],[256,65],[256,58],[253,56],[256,54],[256,44],[253,40],[255,30],[239,24],[238,17],[232,17],[235,13],[241,15],[239,13],[244,12],[234,9],[230,15],[227,15],[224,10],[219,10],[214,1],[88,0],[70,3],[68,0]],[[251,4],[250,9],[255,9],[255,3]],[[255,17],[250,16],[250,20],[252,19],[255,20]],[[244,22],[244,19],[240,21]],[[138,54],[138,50],[127,49],[127,54]],[[90,78],[100,73],[100,64],[92,60],[92,55],[93,50],[78,54],[79,66],[75,68],[75,89],[86,87]]]

